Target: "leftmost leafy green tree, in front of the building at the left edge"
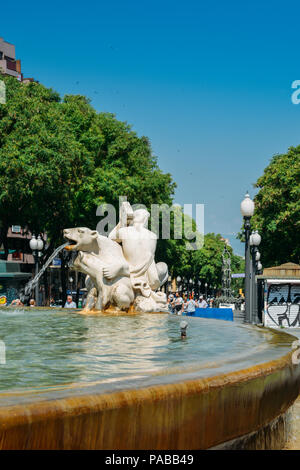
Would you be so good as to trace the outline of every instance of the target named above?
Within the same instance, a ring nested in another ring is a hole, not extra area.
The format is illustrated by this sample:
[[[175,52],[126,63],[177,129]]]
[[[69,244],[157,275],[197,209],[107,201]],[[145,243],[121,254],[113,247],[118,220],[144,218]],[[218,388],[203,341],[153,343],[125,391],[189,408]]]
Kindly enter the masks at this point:
[[[7,228],[28,226],[60,237],[74,216],[73,193],[92,161],[63,119],[57,93],[37,83],[5,77],[7,104],[0,107],[0,218]],[[7,249],[7,248],[6,248]]]

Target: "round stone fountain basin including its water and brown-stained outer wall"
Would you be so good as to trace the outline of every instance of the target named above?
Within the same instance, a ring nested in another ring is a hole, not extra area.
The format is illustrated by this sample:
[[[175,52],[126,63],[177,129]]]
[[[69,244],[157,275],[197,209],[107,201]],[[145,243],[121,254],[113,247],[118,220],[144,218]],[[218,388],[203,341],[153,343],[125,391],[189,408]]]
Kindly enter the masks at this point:
[[[189,318],[181,340],[180,321],[1,309],[0,448],[283,447],[295,338]]]

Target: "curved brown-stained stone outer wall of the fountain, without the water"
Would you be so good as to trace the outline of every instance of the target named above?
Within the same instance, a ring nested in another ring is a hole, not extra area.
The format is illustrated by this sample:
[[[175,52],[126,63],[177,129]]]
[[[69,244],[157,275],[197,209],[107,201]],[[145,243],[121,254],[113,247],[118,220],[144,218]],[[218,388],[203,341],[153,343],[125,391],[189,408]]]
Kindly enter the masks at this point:
[[[0,448],[208,449],[258,432],[299,394],[287,336],[283,355],[246,369],[1,406]]]

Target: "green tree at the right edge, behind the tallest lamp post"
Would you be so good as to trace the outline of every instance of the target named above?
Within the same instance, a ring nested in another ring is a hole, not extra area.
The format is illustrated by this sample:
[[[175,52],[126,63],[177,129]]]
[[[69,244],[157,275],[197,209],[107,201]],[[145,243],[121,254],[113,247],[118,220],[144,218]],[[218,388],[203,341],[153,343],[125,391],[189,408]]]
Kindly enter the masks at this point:
[[[259,192],[251,223],[262,236],[263,265],[299,263],[300,146],[275,155],[255,187]]]

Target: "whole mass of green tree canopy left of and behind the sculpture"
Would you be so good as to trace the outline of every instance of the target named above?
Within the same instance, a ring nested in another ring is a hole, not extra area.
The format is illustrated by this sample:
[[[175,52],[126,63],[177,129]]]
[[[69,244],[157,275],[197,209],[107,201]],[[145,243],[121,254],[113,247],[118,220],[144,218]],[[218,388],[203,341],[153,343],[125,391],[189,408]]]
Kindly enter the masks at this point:
[[[83,96],[1,77],[1,241],[12,224],[47,232],[51,247],[68,226],[96,227],[100,203],[171,203],[175,183],[157,165],[150,142]]]

